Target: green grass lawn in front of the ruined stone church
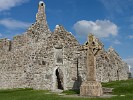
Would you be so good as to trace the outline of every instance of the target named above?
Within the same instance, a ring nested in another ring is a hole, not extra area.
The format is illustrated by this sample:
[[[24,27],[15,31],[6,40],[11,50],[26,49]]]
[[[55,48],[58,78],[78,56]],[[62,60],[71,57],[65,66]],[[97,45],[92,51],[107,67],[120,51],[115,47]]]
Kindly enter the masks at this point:
[[[133,80],[103,83],[104,87],[114,88],[112,98],[67,98],[49,91],[33,89],[0,90],[0,100],[133,100]],[[79,91],[65,91],[66,94],[76,94]],[[121,96],[125,95],[125,96]]]

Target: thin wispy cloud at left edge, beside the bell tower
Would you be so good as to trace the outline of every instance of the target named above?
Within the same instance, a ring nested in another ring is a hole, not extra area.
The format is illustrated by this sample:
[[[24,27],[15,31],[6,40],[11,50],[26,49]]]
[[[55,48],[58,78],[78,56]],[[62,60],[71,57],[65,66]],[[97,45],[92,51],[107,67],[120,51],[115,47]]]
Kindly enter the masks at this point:
[[[3,25],[8,29],[18,29],[18,28],[24,29],[24,28],[29,27],[31,23],[17,21],[17,20],[8,18],[8,19],[0,20],[0,25]]]

